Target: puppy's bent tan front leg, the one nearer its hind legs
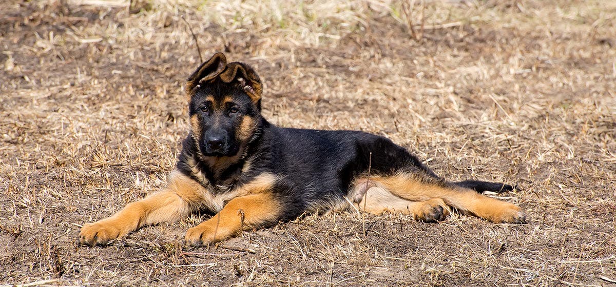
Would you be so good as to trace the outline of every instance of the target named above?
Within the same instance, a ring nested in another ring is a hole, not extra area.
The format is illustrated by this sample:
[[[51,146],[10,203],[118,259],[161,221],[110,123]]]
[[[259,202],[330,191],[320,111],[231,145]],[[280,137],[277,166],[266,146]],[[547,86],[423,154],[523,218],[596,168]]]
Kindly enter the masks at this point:
[[[242,230],[268,226],[280,219],[282,203],[269,192],[232,199],[213,218],[188,229],[189,245],[204,245],[235,237]]]

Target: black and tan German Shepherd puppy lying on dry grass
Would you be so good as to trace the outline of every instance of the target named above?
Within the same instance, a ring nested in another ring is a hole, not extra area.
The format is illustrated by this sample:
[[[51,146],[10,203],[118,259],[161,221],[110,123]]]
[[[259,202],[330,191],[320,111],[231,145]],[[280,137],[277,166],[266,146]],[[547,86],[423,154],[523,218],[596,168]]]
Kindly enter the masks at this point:
[[[190,131],[168,186],[110,218],[85,224],[81,243],[104,245],[147,224],[179,221],[196,211],[216,215],[188,229],[189,245],[351,205],[424,222],[444,220],[450,208],[497,223],[526,221],[518,206],[478,193],[513,187],[446,181],[382,136],[270,124],[261,116],[257,73],[244,63],[227,64],[222,53],[188,77],[185,93]]]

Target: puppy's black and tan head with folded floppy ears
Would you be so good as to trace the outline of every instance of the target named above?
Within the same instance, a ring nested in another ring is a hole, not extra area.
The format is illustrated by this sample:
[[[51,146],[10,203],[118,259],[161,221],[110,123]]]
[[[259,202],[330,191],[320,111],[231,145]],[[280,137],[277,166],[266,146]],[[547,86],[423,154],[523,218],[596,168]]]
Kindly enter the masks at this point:
[[[206,157],[232,157],[261,124],[261,79],[222,53],[201,64],[186,82],[192,136]]]

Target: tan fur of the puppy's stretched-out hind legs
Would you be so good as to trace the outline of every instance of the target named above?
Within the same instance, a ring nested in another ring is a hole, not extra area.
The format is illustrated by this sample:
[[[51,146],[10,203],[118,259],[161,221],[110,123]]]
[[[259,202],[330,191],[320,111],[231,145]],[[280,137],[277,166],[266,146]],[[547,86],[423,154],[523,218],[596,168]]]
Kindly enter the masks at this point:
[[[365,182],[365,178],[356,179],[354,187],[349,192],[349,198],[361,197],[364,192],[362,184]],[[436,202],[431,200],[440,199],[447,206],[452,206],[465,214],[492,222],[515,222],[522,216],[520,208],[511,203],[486,197],[470,189],[424,183],[406,173],[395,176],[371,176],[370,182],[374,187],[365,192],[366,211],[370,213],[402,212],[413,214],[418,219],[425,219],[427,210],[425,205],[434,207]],[[363,208],[363,199],[359,202],[359,207]]]

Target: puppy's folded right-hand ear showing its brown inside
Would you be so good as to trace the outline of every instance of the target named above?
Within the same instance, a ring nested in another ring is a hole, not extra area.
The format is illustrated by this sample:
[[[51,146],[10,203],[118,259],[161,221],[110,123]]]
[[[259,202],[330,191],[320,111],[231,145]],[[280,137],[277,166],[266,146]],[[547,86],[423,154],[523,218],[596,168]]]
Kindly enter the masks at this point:
[[[250,66],[240,62],[229,63],[219,76],[223,82],[237,82],[254,103],[260,103],[263,86],[259,75]]]

